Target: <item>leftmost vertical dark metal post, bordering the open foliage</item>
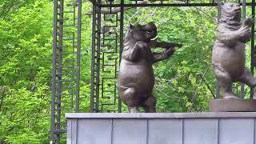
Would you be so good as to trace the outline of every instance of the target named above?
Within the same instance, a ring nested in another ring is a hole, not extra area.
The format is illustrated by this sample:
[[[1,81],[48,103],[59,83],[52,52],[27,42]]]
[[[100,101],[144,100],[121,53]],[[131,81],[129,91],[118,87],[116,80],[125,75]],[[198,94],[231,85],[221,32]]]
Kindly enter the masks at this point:
[[[56,49],[57,49],[57,14],[58,0],[54,0],[54,33],[53,33],[53,56],[52,56],[52,82],[51,82],[51,128],[50,143],[54,142],[54,114],[55,114],[55,83],[56,83]]]

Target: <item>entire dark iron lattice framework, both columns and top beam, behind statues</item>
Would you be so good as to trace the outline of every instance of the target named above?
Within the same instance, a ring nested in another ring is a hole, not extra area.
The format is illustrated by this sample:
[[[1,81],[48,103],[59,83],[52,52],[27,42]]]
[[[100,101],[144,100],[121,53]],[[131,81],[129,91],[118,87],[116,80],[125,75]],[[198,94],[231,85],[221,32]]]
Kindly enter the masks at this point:
[[[250,1],[250,2],[249,2]],[[90,112],[122,112],[117,75],[123,48],[124,12],[130,7],[218,6],[217,0],[93,0]],[[255,0],[234,0],[250,6],[255,18]],[[218,9],[219,12],[219,9]],[[219,13],[218,13],[219,14]],[[60,143],[66,133],[64,113],[79,112],[82,0],[54,0],[54,38],[51,102],[51,142]],[[256,66],[254,31],[251,36],[251,72]],[[241,89],[243,91],[243,89]],[[243,93],[243,92],[242,92]],[[250,90],[253,98],[254,90]]]

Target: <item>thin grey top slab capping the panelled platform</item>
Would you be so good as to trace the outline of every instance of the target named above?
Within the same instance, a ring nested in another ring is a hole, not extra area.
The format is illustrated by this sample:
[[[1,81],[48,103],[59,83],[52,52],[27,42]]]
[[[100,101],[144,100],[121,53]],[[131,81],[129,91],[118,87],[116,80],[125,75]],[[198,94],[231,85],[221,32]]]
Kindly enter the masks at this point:
[[[256,112],[66,113],[66,118],[256,118]]]

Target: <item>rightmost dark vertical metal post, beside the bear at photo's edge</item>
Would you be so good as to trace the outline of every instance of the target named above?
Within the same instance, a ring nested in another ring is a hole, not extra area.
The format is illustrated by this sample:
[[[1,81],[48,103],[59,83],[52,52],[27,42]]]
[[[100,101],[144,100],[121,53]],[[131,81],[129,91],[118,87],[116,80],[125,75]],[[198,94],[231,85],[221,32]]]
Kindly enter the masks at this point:
[[[255,0],[251,2],[251,13],[254,18],[253,26],[251,26],[251,52],[250,52],[250,72],[254,75],[254,32],[255,32]],[[254,87],[250,87],[250,98],[254,98]]]

